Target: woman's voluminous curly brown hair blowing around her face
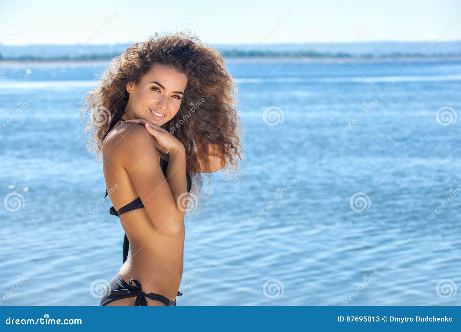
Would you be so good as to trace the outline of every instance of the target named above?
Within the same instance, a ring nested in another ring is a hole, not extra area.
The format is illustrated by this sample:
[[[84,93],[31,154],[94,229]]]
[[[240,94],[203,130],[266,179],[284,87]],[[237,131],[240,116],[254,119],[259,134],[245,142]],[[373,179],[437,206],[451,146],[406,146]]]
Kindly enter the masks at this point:
[[[112,59],[83,105],[84,119],[90,110],[93,117],[92,125],[84,129],[93,128],[89,149],[95,151],[97,160],[101,160],[102,143],[110,120],[117,110],[127,105],[127,83],[140,80],[154,63],[171,66],[187,75],[179,111],[162,128],[183,143],[191,191],[201,192],[203,173],[199,172],[199,165],[207,169],[206,156],[210,151],[219,151],[225,161],[225,172],[232,167],[237,170],[238,161],[242,160],[239,143],[242,130],[236,112],[237,87],[225,69],[224,59],[218,50],[204,46],[197,37],[183,32],[155,33]],[[101,109],[104,110],[102,123]]]

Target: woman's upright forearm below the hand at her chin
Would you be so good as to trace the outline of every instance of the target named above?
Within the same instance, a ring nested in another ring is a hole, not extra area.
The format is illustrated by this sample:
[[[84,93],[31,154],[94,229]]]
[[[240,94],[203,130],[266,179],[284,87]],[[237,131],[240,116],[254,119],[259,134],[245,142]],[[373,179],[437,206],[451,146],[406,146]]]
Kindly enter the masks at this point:
[[[171,194],[173,194],[180,216],[184,218],[187,209],[187,180],[186,180],[186,157],[183,149],[175,150],[168,155],[166,168],[166,181]],[[178,200],[179,198],[179,200]]]

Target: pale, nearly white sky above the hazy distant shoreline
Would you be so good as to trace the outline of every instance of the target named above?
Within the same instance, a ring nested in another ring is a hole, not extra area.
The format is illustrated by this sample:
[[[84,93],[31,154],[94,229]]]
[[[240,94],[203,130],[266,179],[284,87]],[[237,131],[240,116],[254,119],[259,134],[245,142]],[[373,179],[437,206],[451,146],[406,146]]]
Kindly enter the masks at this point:
[[[0,12],[0,43],[135,42],[178,26],[192,27],[205,43],[255,43],[265,35],[266,44],[354,42],[357,40],[349,28],[356,20],[369,26],[366,38],[360,41],[421,41],[432,40],[447,28],[450,16],[455,23],[443,33],[442,40],[461,40],[461,19],[456,18],[461,17],[459,0],[72,2],[9,2]],[[281,20],[284,15],[287,18],[282,23],[277,15]],[[19,27],[21,33],[8,32],[12,26]]]

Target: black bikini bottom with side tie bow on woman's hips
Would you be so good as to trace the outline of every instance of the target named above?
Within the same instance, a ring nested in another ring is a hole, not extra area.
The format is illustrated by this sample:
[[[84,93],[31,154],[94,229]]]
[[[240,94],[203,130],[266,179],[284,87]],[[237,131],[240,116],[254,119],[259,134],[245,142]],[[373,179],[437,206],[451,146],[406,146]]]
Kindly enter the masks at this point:
[[[133,282],[135,285],[133,285]],[[183,293],[177,292],[177,296],[181,296]],[[136,297],[135,306],[147,306],[146,298],[151,300],[160,301],[166,306],[175,306],[176,300],[172,301],[168,298],[165,298],[163,295],[156,293],[142,292],[141,283],[134,279],[130,279],[130,284],[127,284],[125,280],[118,274],[112,278],[112,280],[107,284],[104,289],[103,296],[100,298],[99,305],[103,306],[107,303],[120,300],[122,298],[134,298]]]

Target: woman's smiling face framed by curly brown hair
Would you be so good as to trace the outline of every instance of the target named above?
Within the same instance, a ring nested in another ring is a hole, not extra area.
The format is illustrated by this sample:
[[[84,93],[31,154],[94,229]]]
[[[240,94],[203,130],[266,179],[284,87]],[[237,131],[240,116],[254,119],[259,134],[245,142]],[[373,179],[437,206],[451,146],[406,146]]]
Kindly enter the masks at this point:
[[[136,83],[127,83],[126,90],[130,97],[125,113],[162,126],[179,110],[186,84],[185,74],[165,65],[154,64]]]

